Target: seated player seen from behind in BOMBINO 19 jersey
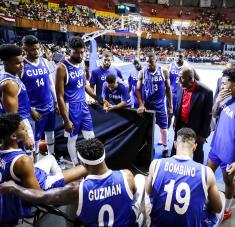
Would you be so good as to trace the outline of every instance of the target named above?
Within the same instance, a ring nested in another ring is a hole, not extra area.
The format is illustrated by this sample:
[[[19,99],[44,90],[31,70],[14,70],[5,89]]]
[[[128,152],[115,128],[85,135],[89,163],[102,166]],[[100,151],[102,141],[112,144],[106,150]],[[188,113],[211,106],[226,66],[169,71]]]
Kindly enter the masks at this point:
[[[192,160],[195,141],[195,132],[182,128],[174,144],[176,155],[152,161],[145,188],[151,202],[150,226],[214,226],[219,221],[211,213],[222,210],[215,176]]]

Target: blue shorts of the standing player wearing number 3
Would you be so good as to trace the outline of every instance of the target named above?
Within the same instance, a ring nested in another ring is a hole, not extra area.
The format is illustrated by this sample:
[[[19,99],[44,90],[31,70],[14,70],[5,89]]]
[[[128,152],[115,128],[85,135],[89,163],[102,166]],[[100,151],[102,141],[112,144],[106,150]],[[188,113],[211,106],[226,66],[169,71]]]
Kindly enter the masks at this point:
[[[165,104],[161,105],[160,107],[153,106],[153,105],[145,105],[145,108],[147,110],[155,111],[156,124],[160,128],[162,129],[168,128],[168,116],[167,116],[167,109],[166,109]]]

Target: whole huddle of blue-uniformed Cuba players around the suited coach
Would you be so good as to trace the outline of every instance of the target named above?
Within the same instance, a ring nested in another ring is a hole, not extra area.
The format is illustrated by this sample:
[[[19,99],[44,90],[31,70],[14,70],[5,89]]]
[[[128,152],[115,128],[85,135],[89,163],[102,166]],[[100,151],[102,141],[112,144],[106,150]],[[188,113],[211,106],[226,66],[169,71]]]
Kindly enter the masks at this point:
[[[110,52],[103,53],[102,64],[90,76],[83,61],[83,40],[73,37],[68,44],[70,55],[57,64],[55,75],[49,61],[40,56],[35,36],[25,36],[22,48],[0,46],[4,65],[0,75],[0,225],[19,223],[31,214],[31,204],[74,204],[85,226],[218,226],[223,218],[231,217],[234,65],[223,71],[213,103],[213,92],[200,82],[181,52],[167,68],[157,64],[154,53],[148,54],[146,67],[135,60],[127,86],[121,71],[111,65]],[[140,115],[145,110],[155,112],[163,158],[152,161],[146,179],[139,174],[134,177],[127,169],[107,167],[86,93],[107,112],[121,108],[135,108]],[[61,170],[53,156],[56,113],[63,119],[73,163],[67,170]],[[208,166],[204,166],[203,144],[211,132],[212,115],[215,132]],[[169,157],[172,118],[175,139]],[[80,133],[85,140],[76,144]],[[48,155],[40,157],[43,135]],[[213,173],[218,166],[225,198]]]

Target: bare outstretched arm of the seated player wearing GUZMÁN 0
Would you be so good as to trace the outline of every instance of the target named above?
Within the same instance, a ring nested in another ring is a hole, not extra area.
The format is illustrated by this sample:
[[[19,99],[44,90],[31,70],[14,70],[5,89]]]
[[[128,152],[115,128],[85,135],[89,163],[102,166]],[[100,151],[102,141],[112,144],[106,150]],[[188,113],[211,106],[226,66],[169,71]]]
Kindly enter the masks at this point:
[[[13,193],[32,204],[68,205],[77,204],[79,198],[78,184],[68,184],[63,188],[48,191],[29,189],[15,184],[13,181],[0,184],[1,193]]]

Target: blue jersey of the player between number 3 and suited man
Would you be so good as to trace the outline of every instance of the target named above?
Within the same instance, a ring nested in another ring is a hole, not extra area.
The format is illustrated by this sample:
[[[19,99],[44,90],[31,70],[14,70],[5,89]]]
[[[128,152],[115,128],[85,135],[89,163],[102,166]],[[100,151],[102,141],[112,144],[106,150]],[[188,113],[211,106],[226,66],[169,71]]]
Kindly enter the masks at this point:
[[[178,66],[176,62],[174,61],[169,69],[169,78],[171,82],[171,90],[173,94],[177,93],[178,87],[179,87],[179,74],[182,69],[182,66]]]

